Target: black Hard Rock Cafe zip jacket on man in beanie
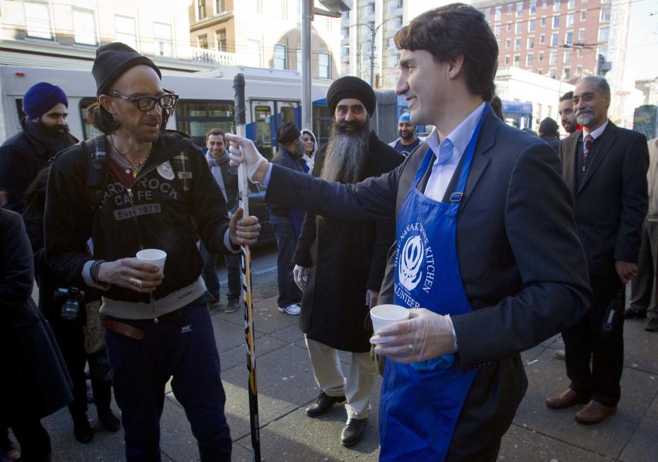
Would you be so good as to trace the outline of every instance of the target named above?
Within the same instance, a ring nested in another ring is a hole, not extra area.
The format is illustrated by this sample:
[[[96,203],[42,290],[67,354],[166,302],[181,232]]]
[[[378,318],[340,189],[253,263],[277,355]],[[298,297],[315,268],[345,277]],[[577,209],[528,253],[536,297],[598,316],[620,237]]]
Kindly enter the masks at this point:
[[[228,253],[223,244],[228,229],[226,202],[204,154],[188,136],[165,132],[154,144],[130,189],[132,204],[129,192],[108,172],[93,213],[86,189],[87,165],[77,145],[56,158],[48,178],[45,250],[61,282],[84,284],[82,267],[92,259],[85,245],[90,237],[94,257],[108,261],[134,257],[147,248],[167,252],[165,277],[153,293],[155,300],[199,278],[202,258],[197,233],[212,254]],[[114,285],[103,296],[129,302],[150,300],[149,294]]]

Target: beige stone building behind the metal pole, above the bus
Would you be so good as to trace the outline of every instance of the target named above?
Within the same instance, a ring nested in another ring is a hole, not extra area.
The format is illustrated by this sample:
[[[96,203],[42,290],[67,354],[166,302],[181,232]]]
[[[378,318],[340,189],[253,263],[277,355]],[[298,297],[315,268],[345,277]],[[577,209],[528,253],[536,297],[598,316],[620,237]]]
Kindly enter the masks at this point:
[[[317,6],[319,2],[315,2]],[[190,41],[208,62],[302,70],[301,0],[192,0]],[[313,78],[341,75],[341,21],[315,15],[311,34]]]

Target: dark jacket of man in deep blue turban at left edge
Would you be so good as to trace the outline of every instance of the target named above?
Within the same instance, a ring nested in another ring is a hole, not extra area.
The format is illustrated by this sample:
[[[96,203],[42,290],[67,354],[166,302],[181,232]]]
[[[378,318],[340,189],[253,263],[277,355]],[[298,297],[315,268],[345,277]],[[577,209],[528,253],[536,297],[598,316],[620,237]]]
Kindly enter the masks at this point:
[[[7,191],[7,210],[23,212],[23,194],[36,174],[48,160],[62,149],[75,145],[77,139],[69,135],[65,140],[50,144],[36,125],[24,118],[23,130],[0,146],[0,190]]]

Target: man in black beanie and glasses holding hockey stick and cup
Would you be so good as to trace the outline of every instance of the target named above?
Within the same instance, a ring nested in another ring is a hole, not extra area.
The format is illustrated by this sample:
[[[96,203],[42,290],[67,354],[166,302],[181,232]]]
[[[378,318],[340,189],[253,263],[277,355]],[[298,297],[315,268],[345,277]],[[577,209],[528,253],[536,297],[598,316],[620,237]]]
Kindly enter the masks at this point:
[[[197,241],[213,254],[237,252],[258,239],[258,219],[243,218],[238,209],[229,222],[202,151],[189,136],[164,130],[178,95],[162,88],[151,60],[110,43],[97,50],[92,73],[98,101],[88,117],[103,134],[53,162],[47,259],[58,279],[103,295],[127,461],[160,461],[160,415],[172,377],[200,459],[230,461],[226,396]],[[84,252],[90,238],[93,256]],[[141,250],[160,260],[135,258]]]

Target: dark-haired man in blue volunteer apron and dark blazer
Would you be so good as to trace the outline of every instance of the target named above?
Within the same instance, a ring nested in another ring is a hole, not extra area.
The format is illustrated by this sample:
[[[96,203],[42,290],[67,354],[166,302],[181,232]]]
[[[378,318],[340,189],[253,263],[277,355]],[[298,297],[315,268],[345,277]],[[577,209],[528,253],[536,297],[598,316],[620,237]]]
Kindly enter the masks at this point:
[[[227,135],[231,158],[267,184],[267,202],[397,221],[379,302],[411,319],[371,339],[388,358],[380,460],[495,461],[527,387],[520,352],[589,306],[585,254],[555,151],[487,103],[498,45],[485,16],[463,4],[429,10],[395,44],[396,91],[415,124],[436,127],[398,169],[324,182]]]

